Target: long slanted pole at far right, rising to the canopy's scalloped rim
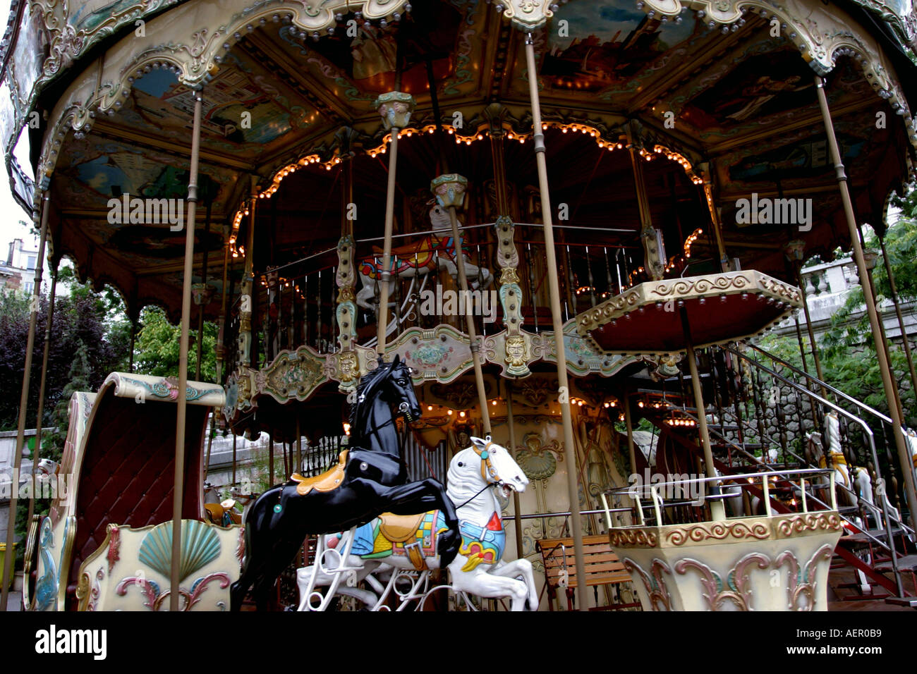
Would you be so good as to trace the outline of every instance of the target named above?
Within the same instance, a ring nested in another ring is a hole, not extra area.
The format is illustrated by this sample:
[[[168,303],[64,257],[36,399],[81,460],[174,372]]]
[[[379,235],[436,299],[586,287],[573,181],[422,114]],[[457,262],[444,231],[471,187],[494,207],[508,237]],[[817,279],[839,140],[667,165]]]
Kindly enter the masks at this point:
[[[901,464],[901,472],[904,473],[904,493],[907,496],[908,510],[911,512],[911,523],[913,523],[917,520],[917,493],[914,492],[914,471],[911,470],[911,452],[908,451],[908,447],[904,442],[898,405],[894,403],[896,388],[894,376],[891,373],[891,367],[889,365],[889,359],[886,356],[884,345],[878,343],[882,338],[882,329],[879,325],[878,312],[876,311],[876,300],[868,287],[869,271],[867,270],[866,259],[863,255],[863,247],[860,246],[859,236],[856,231],[854,204],[850,199],[850,190],[847,186],[844,162],[841,160],[841,153],[837,147],[837,138],[834,136],[834,124],[831,121],[831,111],[828,108],[828,100],[824,94],[824,81],[819,75],[815,75],[815,92],[818,95],[818,105],[822,109],[824,130],[828,137],[828,149],[831,151],[831,159],[834,161],[834,171],[837,175],[837,186],[841,193],[841,200],[844,203],[844,215],[850,233],[850,244],[854,249],[856,269],[859,273],[860,282],[863,284],[863,298],[866,300],[869,325],[872,328],[872,334],[876,340],[878,370],[882,375],[882,385],[885,389],[885,397],[889,401],[889,415],[892,420],[891,431],[895,436],[895,445],[898,448],[898,459]],[[889,541],[889,545],[891,545],[891,541]]]

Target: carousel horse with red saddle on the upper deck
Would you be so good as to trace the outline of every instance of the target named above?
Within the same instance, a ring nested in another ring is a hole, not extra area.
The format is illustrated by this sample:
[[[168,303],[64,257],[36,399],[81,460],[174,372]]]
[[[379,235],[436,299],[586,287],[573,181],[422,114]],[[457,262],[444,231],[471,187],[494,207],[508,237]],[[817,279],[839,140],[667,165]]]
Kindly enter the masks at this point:
[[[430,224],[434,230],[451,227],[447,210],[435,204],[430,209]],[[393,277],[395,276],[412,279],[411,290],[407,293],[409,296],[414,293],[414,281],[416,281],[417,277],[430,271],[446,270],[453,279],[457,278],[456,249],[456,242],[451,235],[443,236],[439,234],[428,234],[407,246],[392,248],[392,277],[389,278],[389,297],[391,300],[389,304],[394,305],[393,290],[395,279]],[[466,253],[462,253],[462,256],[465,260],[465,273],[468,275],[470,289],[479,290],[488,286],[493,278],[491,272],[484,267],[476,267],[471,264]],[[359,293],[357,293],[357,304],[364,309],[374,310],[376,283],[381,282],[381,252],[360,260],[358,271],[362,285]],[[481,282],[479,282],[479,277]],[[417,290],[416,293],[419,294],[420,290],[422,289]]]

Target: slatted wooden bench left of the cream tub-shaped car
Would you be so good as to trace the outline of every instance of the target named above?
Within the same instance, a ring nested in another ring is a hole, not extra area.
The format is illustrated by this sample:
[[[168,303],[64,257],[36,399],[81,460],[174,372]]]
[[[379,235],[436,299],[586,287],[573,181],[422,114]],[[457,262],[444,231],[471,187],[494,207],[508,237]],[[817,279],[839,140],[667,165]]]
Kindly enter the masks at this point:
[[[574,589],[580,580],[576,573],[576,557],[572,538],[543,538],[536,541],[537,549],[545,562],[545,580],[547,582],[547,605],[554,610],[554,600],[557,597],[558,587],[564,570],[567,571],[567,606],[573,610]],[[608,536],[583,536],[582,538],[583,565],[586,572],[586,585],[613,585],[621,582],[630,582],[630,574],[624,569],[624,564],[612,551]],[[623,609],[639,606],[640,602],[615,603],[609,606],[600,606],[591,610]]]

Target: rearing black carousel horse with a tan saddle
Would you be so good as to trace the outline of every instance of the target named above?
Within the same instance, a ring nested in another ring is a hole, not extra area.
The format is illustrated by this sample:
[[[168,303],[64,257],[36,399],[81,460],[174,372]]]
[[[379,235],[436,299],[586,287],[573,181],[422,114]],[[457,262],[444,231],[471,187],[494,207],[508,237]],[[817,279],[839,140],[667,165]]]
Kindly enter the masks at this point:
[[[347,531],[381,513],[439,509],[449,530],[440,536],[438,552],[449,562],[455,558],[461,543],[455,505],[439,481],[407,482],[392,405],[408,422],[422,414],[411,371],[398,356],[360,381],[350,412],[352,448],[341,452],[337,465],[315,478],[294,475],[251,506],[245,521],[246,558],[230,591],[232,610],[238,611],[252,585],[258,609],[267,608],[274,582],[305,536]]]

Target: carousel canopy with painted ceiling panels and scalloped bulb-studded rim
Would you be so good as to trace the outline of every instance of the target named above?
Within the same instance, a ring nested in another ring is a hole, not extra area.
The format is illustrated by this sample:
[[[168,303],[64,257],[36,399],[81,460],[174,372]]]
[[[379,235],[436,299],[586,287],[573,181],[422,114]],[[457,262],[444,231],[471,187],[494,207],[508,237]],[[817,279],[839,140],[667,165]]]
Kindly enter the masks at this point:
[[[3,61],[17,92],[3,119],[7,165],[25,190],[9,160],[25,126],[39,187],[50,188],[54,257],[72,257],[83,279],[114,285],[132,313],[160,304],[174,319],[185,230],[165,215],[158,224],[132,217],[130,200],[187,195],[194,90],[204,99],[194,281],[206,251],[208,281],[218,286],[226,247],[232,260],[246,240],[253,182],[258,273],[333,249],[350,199],[358,241],[381,236],[386,131],[373,104],[396,88],[400,71],[416,109],[399,149],[396,232],[430,227],[428,185],[442,160],[469,178],[465,224],[501,215],[494,135],[503,138],[509,215],[536,225],[533,73],[522,26],[536,45],[551,199],[566,207],[558,225],[571,227],[564,243],[639,249],[633,148],[646,161],[649,215],[672,273],[690,263],[689,273],[715,268],[713,206],[730,258],[792,280],[790,240],[823,257],[849,245],[816,72],[860,220],[882,227],[889,193],[909,177],[904,83],[917,80],[901,45],[913,45],[912,9],[716,5],[576,0],[539,17],[544,10],[522,16],[500,6],[503,16],[497,6],[457,1],[410,11],[374,0],[315,11],[248,0],[115,9],[18,2]],[[445,153],[437,125],[447,132]],[[343,193],[344,171],[352,196]],[[768,200],[792,200],[795,221],[781,221],[779,204],[762,215]],[[358,246],[358,257],[370,253],[371,244]],[[312,259],[330,266],[335,258]],[[237,263],[236,279],[240,270]],[[215,316],[218,303],[207,311]]]

